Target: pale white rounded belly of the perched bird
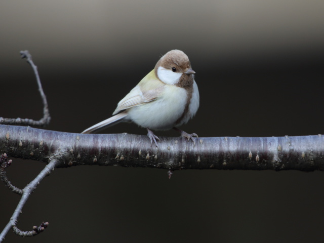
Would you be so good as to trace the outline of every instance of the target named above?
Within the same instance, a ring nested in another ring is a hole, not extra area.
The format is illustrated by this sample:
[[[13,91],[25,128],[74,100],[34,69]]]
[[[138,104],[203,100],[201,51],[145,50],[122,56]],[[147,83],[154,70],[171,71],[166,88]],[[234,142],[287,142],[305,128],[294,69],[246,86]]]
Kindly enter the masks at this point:
[[[158,99],[132,107],[128,110],[131,120],[137,125],[153,130],[168,130],[176,125],[184,112],[187,92],[173,86]]]

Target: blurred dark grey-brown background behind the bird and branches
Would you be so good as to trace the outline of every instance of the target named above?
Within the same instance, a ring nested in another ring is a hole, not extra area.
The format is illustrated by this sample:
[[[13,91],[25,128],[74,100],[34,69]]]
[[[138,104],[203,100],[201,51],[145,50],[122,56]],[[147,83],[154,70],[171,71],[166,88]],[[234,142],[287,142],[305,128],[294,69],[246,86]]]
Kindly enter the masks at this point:
[[[47,95],[49,130],[78,133],[111,115],[169,50],[190,58],[200,137],[323,132],[324,2],[2,1],[0,116],[42,117],[29,50]],[[146,134],[133,124],[106,133]],[[175,131],[158,136],[178,136]],[[14,159],[23,187],[45,165]],[[20,197],[0,186],[0,228]],[[322,242],[324,174],[57,169],[32,194],[5,242]]]

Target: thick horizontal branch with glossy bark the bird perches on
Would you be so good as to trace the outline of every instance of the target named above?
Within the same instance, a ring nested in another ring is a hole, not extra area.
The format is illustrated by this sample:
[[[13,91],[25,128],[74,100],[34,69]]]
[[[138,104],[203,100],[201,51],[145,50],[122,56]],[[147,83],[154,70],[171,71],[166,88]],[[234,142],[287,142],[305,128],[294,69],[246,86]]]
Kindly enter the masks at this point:
[[[179,169],[324,170],[324,136],[160,137],[158,147],[147,136],[74,134],[0,125],[0,151],[11,157],[48,161],[57,167],[114,165]]]

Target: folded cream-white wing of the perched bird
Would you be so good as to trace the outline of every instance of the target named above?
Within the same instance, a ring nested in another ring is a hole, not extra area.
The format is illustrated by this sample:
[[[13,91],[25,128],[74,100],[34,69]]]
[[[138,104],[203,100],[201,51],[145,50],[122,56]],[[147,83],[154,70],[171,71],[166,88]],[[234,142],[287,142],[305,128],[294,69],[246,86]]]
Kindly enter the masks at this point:
[[[113,115],[121,110],[156,100],[163,92],[164,88],[165,84],[155,76],[153,69],[134,89],[131,90],[130,93],[128,93],[128,95],[124,97],[124,99],[119,101]]]

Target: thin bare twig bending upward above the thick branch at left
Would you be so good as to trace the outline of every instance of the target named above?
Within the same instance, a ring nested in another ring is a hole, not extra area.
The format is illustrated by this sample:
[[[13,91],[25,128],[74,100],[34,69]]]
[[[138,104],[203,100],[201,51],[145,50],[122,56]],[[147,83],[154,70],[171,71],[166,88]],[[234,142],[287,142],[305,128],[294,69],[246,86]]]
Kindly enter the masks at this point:
[[[37,71],[37,66],[33,63],[32,59],[31,59],[31,55],[30,53],[26,50],[26,51],[21,51],[20,52],[21,58],[27,58],[27,62],[30,64],[30,66],[32,67],[34,74],[36,76],[36,80],[37,80],[37,85],[38,85],[38,91],[39,93],[41,93],[41,97],[43,100],[43,113],[44,116],[43,118],[39,119],[39,120],[33,120],[33,119],[29,119],[29,118],[4,118],[4,117],[0,117],[0,124],[7,124],[7,125],[27,125],[27,126],[37,126],[37,127],[42,127],[42,126],[46,126],[50,123],[51,120],[51,116],[50,116],[50,112],[49,112],[49,108],[48,108],[48,104],[47,104],[47,99],[46,99],[46,95],[44,94],[43,88],[42,88],[42,84],[41,84],[41,79],[39,78],[38,75],[38,71]]]

